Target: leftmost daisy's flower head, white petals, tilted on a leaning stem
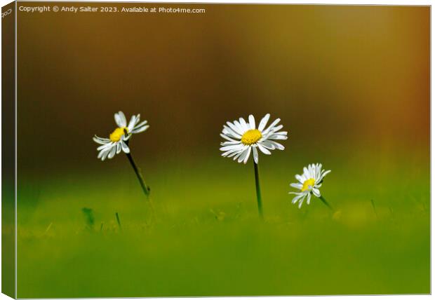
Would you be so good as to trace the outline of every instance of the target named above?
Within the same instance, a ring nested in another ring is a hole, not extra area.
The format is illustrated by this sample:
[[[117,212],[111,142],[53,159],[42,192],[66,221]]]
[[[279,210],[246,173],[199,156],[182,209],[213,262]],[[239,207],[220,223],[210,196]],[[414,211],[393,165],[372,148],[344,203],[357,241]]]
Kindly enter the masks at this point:
[[[115,154],[119,154],[121,150],[128,154],[130,149],[128,148],[128,139],[133,135],[133,133],[144,132],[149,128],[147,121],[140,122],[140,114],[137,116],[132,116],[130,122],[128,122],[126,116],[122,111],[118,111],[115,114],[115,122],[118,127],[109,135],[109,138],[98,137],[95,135],[93,137],[94,142],[101,144],[97,148],[100,153],[98,158],[104,161],[106,158],[113,158]]]

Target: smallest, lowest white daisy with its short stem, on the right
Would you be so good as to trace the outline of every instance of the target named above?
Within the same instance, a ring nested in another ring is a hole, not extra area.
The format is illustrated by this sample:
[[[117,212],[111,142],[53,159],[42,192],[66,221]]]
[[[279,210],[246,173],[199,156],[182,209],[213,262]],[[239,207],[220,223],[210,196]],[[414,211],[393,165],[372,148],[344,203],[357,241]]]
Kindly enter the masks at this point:
[[[295,184],[290,184],[290,186],[293,188],[300,190],[300,192],[290,192],[296,195],[295,198],[293,198],[292,203],[295,204],[299,202],[298,206],[300,208],[302,207],[302,203],[304,203],[305,198],[307,198],[307,204],[309,204],[311,196],[314,195],[317,198],[320,198],[323,203],[330,207],[325,198],[323,198],[320,194],[323,178],[328,175],[329,172],[330,170],[322,170],[321,163],[313,163],[312,165],[308,165],[308,167],[304,167],[304,173],[302,175],[295,176],[298,182]]]

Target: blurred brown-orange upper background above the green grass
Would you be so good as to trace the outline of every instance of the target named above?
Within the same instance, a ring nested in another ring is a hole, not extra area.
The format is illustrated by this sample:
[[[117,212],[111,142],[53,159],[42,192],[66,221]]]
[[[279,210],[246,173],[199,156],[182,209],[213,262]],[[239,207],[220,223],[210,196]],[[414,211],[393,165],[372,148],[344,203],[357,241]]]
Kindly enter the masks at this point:
[[[218,155],[225,121],[267,112],[293,153],[429,158],[429,7],[113,5],[206,13],[18,11],[26,170],[95,161],[119,110],[149,121],[134,143],[154,158]]]

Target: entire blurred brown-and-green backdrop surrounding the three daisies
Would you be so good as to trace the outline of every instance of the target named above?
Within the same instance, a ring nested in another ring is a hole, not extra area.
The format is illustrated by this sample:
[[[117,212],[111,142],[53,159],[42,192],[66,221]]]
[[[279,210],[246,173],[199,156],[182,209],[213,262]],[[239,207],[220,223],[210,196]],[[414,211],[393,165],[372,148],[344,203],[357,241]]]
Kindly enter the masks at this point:
[[[429,7],[135,6],[206,13],[18,12],[18,297],[430,292]],[[151,125],[154,221],[126,157],[96,158],[119,110]],[[289,139],[261,222],[219,133],[266,113]],[[291,205],[317,162],[335,212]]]

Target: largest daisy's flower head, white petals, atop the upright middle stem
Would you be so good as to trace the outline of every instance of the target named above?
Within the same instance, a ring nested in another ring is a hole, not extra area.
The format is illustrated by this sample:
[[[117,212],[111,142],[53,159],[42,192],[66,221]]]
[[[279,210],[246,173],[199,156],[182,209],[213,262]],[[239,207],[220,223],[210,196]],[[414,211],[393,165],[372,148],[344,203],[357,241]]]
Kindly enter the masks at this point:
[[[258,163],[258,150],[264,154],[271,154],[269,150],[283,150],[284,146],[275,142],[274,139],[287,139],[286,131],[279,131],[283,125],[278,125],[281,119],[277,118],[266,128],[270,114],[266,114],[255,127],[255,118],[249,115],[248,122],[243,118],[239,121],[227,122],[222,129],[221,137],[226,139],[220,143],[220,151],[224,157],[233,157],[234,161],[246,163],[252,151],[255,163]],[[258,150],[257,150],[258,149]]]

